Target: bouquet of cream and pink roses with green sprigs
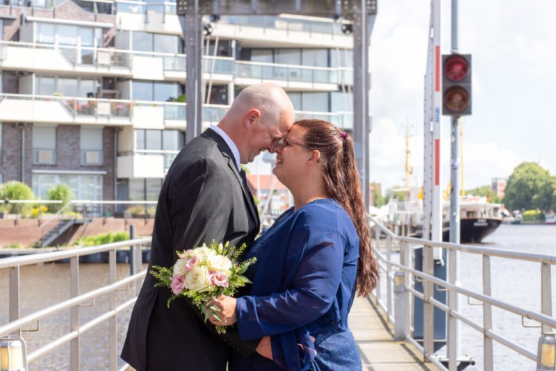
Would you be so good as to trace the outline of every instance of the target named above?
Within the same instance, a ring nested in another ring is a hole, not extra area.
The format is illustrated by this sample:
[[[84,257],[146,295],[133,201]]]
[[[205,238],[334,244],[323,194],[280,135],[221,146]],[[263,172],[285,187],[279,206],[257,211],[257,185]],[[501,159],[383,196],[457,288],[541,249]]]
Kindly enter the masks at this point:
[[[219,308],[209,305],[218,295],[233,296],[238,288],[251,283],[243,273],[256,258],[238,263],[238,257],[245,250],[245,244],[236,248],[213,242],[195,249],[178,252],[178,260],[173,267],[154,266],[151,274],[158,280],[154,286],[167,287],[173,292],[167,307],[178,297],[188,297],[204,313],[220,321]],[[224,326],[216,326],[218,333],[226,333]]]

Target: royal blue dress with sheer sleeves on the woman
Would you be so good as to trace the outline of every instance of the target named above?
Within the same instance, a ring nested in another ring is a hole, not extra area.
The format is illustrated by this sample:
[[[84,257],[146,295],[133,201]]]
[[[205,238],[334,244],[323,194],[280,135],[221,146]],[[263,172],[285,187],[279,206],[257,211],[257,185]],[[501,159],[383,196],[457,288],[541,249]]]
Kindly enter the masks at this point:
[[[250,295],[236,302],[238,331],[244,340],[272,336],[274,362],[235,354],[229,370],[361,370],[347,327],[359,237],[344,209],[333,199],[290,208],[256,240],[252,256]]]

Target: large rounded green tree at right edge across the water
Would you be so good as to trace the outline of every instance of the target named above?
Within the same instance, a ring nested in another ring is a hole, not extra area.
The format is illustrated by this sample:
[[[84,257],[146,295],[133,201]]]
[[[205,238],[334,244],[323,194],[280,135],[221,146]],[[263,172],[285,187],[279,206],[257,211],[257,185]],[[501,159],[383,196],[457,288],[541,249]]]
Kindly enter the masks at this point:
[[[553,206],[555,181],[548,170],[537,163],[523,162],[509,176],[504,204],[509,210],[540,209]]]

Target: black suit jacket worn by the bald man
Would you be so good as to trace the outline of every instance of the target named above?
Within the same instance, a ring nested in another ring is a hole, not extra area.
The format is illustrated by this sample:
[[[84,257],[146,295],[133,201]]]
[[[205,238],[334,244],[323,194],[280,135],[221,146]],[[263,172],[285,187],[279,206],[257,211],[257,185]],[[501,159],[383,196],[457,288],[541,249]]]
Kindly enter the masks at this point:
[[[181,150],[168,170],[156,206],[149,271],[153,265],[171,267],[176,252],[212,240],[250,247],[259,226],[234,155],[220,135],[208,129]],[[241,342],[237,331],[219,336],[187,299],[167,308],[170,289],[155,288],[154,283],[147,273],[122,349],[122,358],[133,368],[225,370],[229,345],[249,354],[258,344]]]

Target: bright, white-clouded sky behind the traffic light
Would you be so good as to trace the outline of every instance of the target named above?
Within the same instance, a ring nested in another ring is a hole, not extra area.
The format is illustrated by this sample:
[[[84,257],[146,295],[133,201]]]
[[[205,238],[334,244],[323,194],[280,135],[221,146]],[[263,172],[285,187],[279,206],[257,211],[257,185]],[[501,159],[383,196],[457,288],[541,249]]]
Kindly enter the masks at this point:
[[[441,51],[450,53],[443,0]],[[464,188],[508,177],[523,161],[556,174],[555,0],[459,1],[459,52],[473,56],[473,115],[462,122]],[[379,0],[370,38],[370,180],[404,184],[405,126],[412,183],[423,182],[423,95],[429,0]],[[450,179],[450,119],[443,117],[441,184]],[[262,156],[260,156],[262,158]],[[254,172],[268,172],[259,159]],[[267,170],[268,169],[268,170]]]

